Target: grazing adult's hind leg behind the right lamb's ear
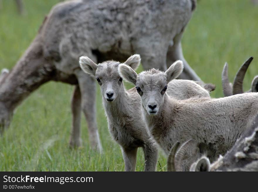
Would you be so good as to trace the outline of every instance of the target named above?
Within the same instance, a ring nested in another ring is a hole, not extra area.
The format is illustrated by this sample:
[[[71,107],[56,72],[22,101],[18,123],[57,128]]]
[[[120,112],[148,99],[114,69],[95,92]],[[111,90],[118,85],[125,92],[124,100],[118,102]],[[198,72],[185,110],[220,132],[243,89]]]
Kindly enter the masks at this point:
[[[194,72],[194,70],[190,67],[187,61],[184,58],[182,45],[181,45],[181,37],[183,32],[175,36],[173,41],[170,43],[167,51],[167,67],[174,63],[176,60],[182,60],[184,63],[184,71],[179,76],[180,79],[189,79],[194,81],[201,81],[201,78]]]

